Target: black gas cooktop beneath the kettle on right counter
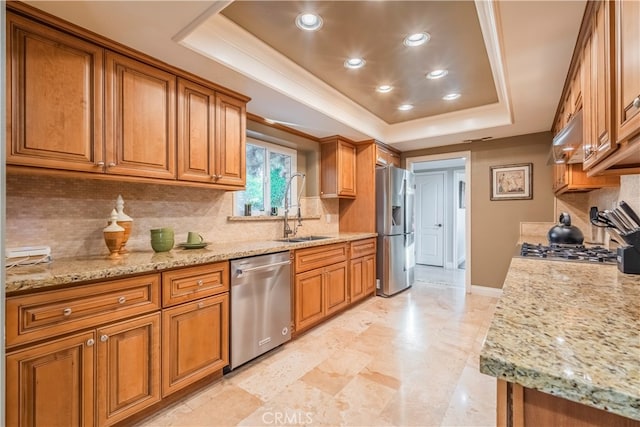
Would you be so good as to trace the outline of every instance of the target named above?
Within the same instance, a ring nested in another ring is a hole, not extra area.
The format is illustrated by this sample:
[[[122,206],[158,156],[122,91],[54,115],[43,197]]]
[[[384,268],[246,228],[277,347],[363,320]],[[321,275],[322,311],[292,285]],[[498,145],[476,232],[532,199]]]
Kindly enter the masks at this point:
[[[583,245],[535,245],[523,243],[520,256],[558,261],[578,261],[602,264],[616,264],[617,254],[601,246]]]

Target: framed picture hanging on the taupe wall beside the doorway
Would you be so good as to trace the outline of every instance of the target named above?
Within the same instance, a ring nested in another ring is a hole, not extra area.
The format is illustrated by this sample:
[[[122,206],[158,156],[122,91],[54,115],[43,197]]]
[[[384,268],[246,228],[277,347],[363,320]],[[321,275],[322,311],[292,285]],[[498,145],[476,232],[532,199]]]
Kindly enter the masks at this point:
[[[491,166],[491,200],[533,199],[533,163]]]

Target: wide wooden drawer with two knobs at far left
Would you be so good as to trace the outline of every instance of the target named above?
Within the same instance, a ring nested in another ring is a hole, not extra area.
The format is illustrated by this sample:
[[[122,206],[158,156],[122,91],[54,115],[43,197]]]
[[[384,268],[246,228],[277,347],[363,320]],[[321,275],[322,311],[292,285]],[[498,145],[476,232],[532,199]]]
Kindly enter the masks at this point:
[[[7,298],[7,346],[160,309],[160,275]]]

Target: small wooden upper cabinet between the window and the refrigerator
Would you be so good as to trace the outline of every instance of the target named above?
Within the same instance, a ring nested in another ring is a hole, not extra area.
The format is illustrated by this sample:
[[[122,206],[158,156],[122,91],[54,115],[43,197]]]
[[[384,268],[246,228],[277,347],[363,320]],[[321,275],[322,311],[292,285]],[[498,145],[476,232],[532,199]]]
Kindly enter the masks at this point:
[[[320,197],[356,197],[356,147],[333,136],[320,144]]]

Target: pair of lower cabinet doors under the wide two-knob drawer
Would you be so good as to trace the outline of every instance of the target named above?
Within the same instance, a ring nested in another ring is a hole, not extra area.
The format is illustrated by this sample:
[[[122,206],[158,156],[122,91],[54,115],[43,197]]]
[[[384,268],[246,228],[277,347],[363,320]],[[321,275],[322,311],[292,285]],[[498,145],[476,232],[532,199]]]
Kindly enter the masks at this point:
[[[7,425],[112,425],[160,401],[160,313],[34,345],[6,360]]]

